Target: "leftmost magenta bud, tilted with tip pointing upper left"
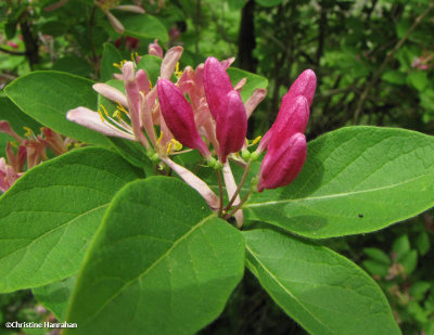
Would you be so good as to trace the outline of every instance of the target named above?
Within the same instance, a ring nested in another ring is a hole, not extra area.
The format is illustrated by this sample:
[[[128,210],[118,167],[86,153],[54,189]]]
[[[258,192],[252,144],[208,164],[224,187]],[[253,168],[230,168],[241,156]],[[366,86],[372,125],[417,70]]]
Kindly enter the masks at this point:
[[[194,124],[193,108],[170,80],[161,78],[157,82],[159,106],[167,127],[183,145],[196,149],[202,156],[208,157],[209,151],[199,136]]]

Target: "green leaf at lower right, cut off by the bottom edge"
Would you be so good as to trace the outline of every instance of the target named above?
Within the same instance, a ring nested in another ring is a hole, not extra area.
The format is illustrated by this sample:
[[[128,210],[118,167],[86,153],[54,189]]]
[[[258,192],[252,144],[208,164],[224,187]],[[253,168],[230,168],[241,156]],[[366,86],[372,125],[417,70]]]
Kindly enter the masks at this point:
[[[243,234],[248,270],[310,334],[400,334],[382,291],[348,259],[271,229]]]

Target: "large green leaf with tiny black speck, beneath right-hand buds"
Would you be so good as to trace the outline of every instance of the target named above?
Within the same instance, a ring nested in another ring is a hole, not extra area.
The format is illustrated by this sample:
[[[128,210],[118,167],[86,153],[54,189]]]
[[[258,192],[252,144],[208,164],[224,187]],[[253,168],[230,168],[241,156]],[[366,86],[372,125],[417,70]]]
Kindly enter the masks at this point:
[[[366,233],[434,205],[434,139],[348,127],[311,141],[295,181],[252,196],[247,218],[312,239]]]

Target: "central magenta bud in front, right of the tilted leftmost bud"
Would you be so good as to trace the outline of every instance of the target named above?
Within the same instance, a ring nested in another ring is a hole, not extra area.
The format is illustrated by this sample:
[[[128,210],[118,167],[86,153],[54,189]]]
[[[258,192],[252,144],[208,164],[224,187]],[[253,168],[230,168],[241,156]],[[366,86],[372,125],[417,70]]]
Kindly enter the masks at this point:
[[[218,156],[222,163],[230,153],[242,149],[247,133],[247,116],[239,92],[232,90],[224,99],[225,111],[217,115],[216,136],[219,143]]]

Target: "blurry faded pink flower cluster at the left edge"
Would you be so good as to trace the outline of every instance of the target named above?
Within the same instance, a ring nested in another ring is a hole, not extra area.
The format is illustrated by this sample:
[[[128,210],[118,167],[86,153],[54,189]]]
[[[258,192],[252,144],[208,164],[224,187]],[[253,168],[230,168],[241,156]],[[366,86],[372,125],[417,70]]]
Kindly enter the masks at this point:
[[[35,136],[29,128],[25,128],[25,138],[18,136],[5,120],[0,120],[0,132],[12,137],[18,144],[8,142],[5,152],[7,158],[0,157],[0,191],[4,193],[27,169],[39,165],[46,160],[47,149],[50,149],[53,154],[64,154],[73,140],[69,138],[63,139],[59,133],[50,128],[42,127],[41,133]],[[17,146],[16,153],[13,145]]]

